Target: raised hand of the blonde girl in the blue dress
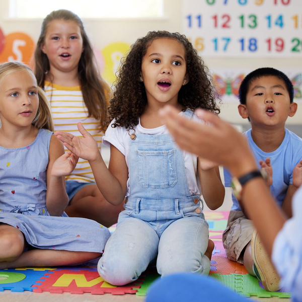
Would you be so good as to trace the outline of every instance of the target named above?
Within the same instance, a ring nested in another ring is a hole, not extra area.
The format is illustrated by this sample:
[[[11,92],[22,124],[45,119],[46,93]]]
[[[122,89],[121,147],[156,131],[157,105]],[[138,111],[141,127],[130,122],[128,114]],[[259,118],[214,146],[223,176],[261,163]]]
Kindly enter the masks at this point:
[[[79,157],[75,156],[70,151],[56,159],[52,165],[51,175],[60,177],[71,174],[77,165]]]

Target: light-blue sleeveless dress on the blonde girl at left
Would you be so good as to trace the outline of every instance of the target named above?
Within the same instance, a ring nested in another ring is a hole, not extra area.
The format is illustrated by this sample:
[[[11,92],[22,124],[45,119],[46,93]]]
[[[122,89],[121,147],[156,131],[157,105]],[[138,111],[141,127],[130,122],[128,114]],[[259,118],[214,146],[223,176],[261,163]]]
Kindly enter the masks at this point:
[[[52,132],[40,129],[21,148],[0,146],[0,223],[19,229],[40,249],[102,252],[109,230],[86,218],[50,216],[46,208],[46,171]],[[1,142],[0,142],[1,144]]]

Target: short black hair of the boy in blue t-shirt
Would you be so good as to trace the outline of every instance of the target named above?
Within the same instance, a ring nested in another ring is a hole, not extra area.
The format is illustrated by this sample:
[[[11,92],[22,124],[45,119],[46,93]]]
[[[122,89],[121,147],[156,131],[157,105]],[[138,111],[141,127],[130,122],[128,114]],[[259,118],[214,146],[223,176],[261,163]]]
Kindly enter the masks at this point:
[[[241,104],[245,105],[247,102],[246,97],[251,83],[261,77],[276,77],[282,80],[288,91],[290,103],[293,102],[293,85],[288,79],[287,75],[272,67],[262,67],[250,72],[241,82],[239,88],[239,101]]]

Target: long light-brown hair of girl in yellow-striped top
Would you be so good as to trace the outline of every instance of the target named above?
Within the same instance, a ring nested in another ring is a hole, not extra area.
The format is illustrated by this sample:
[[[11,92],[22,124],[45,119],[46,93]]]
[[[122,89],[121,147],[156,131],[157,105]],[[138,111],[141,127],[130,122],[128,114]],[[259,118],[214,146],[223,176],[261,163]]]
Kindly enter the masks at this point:
[[[81,91],[88,109],[88,117],[93,116],[99,120],[100,130],[103,130],[107,110],[106,99],[110,88],[97,70],[93,49],[85,32],[82,20],[78,15],[68,10],[53,11],[43,20],[40,37],[35,50],[35,73],[38,86],[44,88],[46,74],[50,69],[48,57],[43,53],[41,46],[45,42],[47,26],[53,20],[74,21],[80,27],[84,49],[78,66]]]

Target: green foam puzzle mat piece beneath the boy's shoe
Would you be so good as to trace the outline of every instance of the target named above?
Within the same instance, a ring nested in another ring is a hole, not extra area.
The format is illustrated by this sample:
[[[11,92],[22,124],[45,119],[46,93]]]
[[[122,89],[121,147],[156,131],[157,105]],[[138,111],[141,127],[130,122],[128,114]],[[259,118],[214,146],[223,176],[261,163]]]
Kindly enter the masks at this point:
[[[211,274],[211,277],[219,280],[225,286],[230,287],[234,291],[243,294],[245,296],[258,296],[262,298],[279,297],[289,298],[290,293],[285,289],[279,291],[266,291],[259,286],[259,281],[256,277],[249,274]]]

